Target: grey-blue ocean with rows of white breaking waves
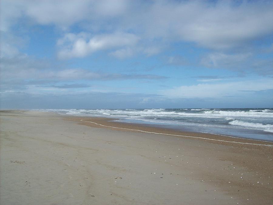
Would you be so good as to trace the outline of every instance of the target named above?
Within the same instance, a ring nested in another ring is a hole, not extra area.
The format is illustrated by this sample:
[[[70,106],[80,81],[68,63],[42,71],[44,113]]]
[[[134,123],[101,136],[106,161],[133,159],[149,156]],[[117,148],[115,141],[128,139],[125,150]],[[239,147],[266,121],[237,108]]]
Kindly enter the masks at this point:
[[[117,118],[176,130],[273,141],[273,109],[42,109],[75,116]]]

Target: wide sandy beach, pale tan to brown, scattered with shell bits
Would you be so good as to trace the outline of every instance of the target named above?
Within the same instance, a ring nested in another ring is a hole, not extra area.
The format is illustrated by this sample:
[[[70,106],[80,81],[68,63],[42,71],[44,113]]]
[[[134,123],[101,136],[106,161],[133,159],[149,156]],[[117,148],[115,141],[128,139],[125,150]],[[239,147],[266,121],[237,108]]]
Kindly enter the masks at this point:
[[[0,116],[3,205],[273,201],[272,142],[49,112]]]

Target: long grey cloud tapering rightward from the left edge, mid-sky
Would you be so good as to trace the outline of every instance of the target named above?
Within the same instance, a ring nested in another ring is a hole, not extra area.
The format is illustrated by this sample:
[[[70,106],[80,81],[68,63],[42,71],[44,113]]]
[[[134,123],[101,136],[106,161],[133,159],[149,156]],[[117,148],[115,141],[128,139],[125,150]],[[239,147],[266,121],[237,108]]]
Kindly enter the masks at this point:
[[[1,58],[1,83],[16,84],[16,80],[121,80],[121,79],[162,79],[160,75],[121,74],[93,72],[82,68],[54,69],[48,62],[38,61],[28,56]],[[14,81],[14,82],[13,82]],[[37,81],[39,84],[39,81]]]

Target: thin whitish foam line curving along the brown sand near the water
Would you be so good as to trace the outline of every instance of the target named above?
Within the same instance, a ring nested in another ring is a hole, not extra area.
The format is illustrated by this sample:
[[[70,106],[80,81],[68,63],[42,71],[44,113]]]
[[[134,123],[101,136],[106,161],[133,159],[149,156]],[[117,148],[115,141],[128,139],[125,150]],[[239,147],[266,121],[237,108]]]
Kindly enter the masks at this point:
[[[247,143],[247,142],[234,142],[234,141],[210,139],[210,138],[205,138],[205,137],[194,137],[194,136],[186,136],[186,135],[178,135],[178,134],[164,134],[164,133],[160,133],[160,132],[148,132],[148,131],[144,131],[144,130],[136,130],[136,129],[123,128],[123,127],[113,127],[113,126],[102,125],[102,124],[99,124],[99,123],[86,121],[86,120],[88,120],[88,118],[82,119],[81,121],[88,122],[88,123],[94,123],[96,125],[100,125],[100,126],[103,126],[103,127],[112,127],[112,128],[123,129],[123,130],[134,130],[134,131],[145,132],[145,133],[150,133],[150,134],[163,134],[163,135],[171,135],[171,136],[178,136],[178,137],[199,138],[199,139],[204,139],[204,140],[214,140],[214,141],[221,141],[221,142],[231,142],[231,143],[238,143],[238,144],[252,144],[252,145],[261,145],[261,146],[273,147],[273,145],[271,145],[271,144],[254,144],[254,143]]]

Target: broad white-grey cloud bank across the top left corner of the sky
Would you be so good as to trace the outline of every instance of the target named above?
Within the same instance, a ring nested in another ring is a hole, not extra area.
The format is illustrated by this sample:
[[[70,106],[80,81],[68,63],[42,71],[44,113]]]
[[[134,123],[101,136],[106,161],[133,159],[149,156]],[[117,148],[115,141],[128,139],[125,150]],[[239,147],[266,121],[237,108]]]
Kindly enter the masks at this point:
[[[82,20],[97,20],[98,16],[119,16],[127,5],[128,1],[125,0],[3,0],[0,7],[1,30],[7,31],[12,22],[22,16],[38,24],[54,24],[66,29]]]

